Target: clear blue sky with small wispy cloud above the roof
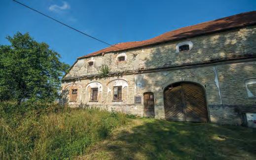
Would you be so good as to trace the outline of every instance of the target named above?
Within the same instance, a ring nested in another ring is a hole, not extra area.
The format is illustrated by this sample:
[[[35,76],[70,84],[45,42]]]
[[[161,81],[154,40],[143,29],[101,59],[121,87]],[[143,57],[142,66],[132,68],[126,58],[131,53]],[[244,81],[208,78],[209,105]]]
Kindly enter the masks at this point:
[[[256,0],[19,0],[110,44],[141,41],[180,27],[256,10]],[[73,64],[108,47],[25,8],[0,0],[0,44],[29,32]]]

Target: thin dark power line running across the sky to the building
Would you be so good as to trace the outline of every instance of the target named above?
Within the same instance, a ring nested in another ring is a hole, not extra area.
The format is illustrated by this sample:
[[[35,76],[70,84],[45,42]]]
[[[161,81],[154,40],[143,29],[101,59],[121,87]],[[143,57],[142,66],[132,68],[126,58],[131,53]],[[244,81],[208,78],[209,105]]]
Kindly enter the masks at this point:
[[[29,9],[31,9],[31,10],[33,10],[33,11],[35,11],[35,12],[37,12],[37,13],[39,13],[39,14],[41,14],[41,15],[43,15],[43,16],[45,16],[45,17],[47,17],[47,18],[49,18],[49,19],[51,19],[51,20],[53,20],[53,21],[55,21],[55,22],[57,22],[57,23],[59,23],[59,24],[62,24],[62,25],[64,25],[64,26],[66,26],[66,27],[69,27],[69,28],[71,28],[71,29],[73,29],[73,30],[75,30],[75,31],[77,31],[77,32],[79,32],[79,33],[81,33],[81,34],[83,34],[83,35],[86,35],[86,36],[88,36],[88,37],[90,37],[90,38],[92,38],[92,39],[95,39],[95,40],[97,40],[97,41],[99,41],[99,42],[102,42],[102,43],[104,43],[104,44],[107,44],[107,45],[109,45],[109,46],[111,46],[111,47],[114,47],[114,48],[117,48],[117,49],[119,49],[119,50],[122,50],[122,49],[119,48],[119,47],[113,46],[113,45],[111,45],[111,44],[109,44],[109,43],[107,43],[107,42],[104,42],[104,41],[102,41],[102,40],[96,38],[96,37],[93,37],[93,36],[91,36],[91,35],[89,35],[89,34],[87,34],[87,33],[84,33],[84,32],[82,32],[82,31],[80,31],[80,30],[78,30],[78,29],[76,29],[76,28],[74,28],[74,27],[71,27],[71,26],[69,26],[69,25],[67,25],[67,24],[65,24],[65,23],[63,23],[63,22],[61,22],[61,21],[58,21],[58,20],[56,20],[56,19],[54,19],[54,18],[52,18],[52,17],[50,17],[50,16],[48,16],[48,15],[46,15],[46,14],[44,14],[44,13],[42,13],[42,12],[40,12],[40,11],[34,9],[34,8],[31,8],[30,6],[28,6],[28,5],[26,5],[26,4],[23,4],[23,3],[21,3],[21,2],[19,2],[19,1],[17,1],[17,0],[13,0],[13,1],[16,2],[16,3],[18,3],[18,4],[20,4],[20,5],[25,6],[25,7],[29,8]],[[131,53],[131,52],[129,52],[129,53]],[[133,54],[134,56],[137,55],[137,54],[135,54],[135,53],[132,53],[132,54]]]

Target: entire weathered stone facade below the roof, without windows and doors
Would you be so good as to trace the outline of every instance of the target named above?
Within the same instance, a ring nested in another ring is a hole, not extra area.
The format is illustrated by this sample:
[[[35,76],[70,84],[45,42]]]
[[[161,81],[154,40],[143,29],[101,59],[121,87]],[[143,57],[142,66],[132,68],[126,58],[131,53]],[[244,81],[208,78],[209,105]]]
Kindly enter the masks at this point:
[[[77,102],[71,105],[82,103],[140,116],[144,115],[143,94],[152,92],[155,118],[165,118],[164,89],[175,82],[194,82],[205,90],[209,121],[240,125],[242,113],[256,112],[256,27],[233,29],[186,41],[191,41],[193,47],[184,53],[176,52],[176,45],[183,42],[177,41],[129,50],[137,53],[136,57],[129,52],[121,52],[79,59],[66,80],[64,78],[63,89],[77,86]],[[125,61],[118,62],[120,54],[126,56]],[[90,61],[94,66],[88,72]],[[107,64],[112,73],[123,74],[83,78],[84,75],[96,75],[102,64]],[[91,86],[99,87],[98,102],[90,102]],[[122,86],[122,101],[113,101],[113,86]],[[135,103],[135,96],[142,98],[141,104]]]

